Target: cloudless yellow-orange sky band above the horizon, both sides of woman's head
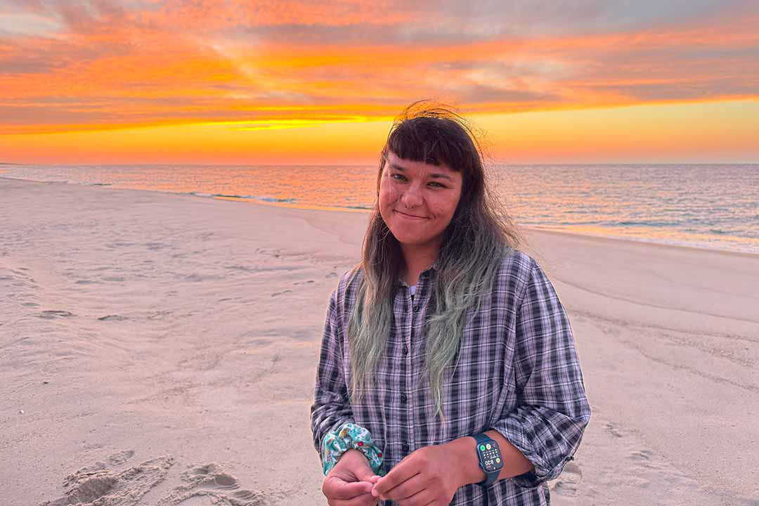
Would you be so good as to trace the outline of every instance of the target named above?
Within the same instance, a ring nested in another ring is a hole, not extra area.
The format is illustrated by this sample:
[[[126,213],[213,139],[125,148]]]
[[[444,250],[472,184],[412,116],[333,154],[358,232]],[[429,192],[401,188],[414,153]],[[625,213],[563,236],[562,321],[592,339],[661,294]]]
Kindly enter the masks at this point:
[[[759,161],[756,100],[465,116],[504,162]],[[0,162],[373,165],[390,124],[355,116],[2,135]]]

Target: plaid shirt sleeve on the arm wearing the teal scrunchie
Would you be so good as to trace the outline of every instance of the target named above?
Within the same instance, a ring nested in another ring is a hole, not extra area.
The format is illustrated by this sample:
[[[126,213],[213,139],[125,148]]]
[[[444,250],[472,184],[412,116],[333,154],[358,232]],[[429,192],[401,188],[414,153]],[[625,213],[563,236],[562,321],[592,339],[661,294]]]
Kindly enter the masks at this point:
[[[311,406],[313,445],[320,456],[324,435],[343,423],[354,421],[342,370],[342,332],[335,299],[336,295],[332,293],[324,323],[316,388]]]

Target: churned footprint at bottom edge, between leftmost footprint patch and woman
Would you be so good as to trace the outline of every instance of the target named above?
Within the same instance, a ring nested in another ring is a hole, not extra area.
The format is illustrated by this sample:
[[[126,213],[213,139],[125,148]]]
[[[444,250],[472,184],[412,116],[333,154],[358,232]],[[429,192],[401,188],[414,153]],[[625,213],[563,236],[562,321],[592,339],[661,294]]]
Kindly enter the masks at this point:
[[[181,475],[184,485],[160,501],[158,506],[261,506],[272,502],[271,495],[241,489],[235,476],[225,473],[218,464],[194,467]]]

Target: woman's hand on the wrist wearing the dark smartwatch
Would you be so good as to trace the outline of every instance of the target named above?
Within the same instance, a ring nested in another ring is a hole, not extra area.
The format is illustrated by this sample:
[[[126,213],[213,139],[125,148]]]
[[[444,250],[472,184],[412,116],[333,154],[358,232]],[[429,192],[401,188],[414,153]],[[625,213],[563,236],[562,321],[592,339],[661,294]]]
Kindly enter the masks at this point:
[[[465,485],[450,445],[419,448],[386,476],[379,478],[372,494],[392,499],[400,506],[444,506],[458,487]]]

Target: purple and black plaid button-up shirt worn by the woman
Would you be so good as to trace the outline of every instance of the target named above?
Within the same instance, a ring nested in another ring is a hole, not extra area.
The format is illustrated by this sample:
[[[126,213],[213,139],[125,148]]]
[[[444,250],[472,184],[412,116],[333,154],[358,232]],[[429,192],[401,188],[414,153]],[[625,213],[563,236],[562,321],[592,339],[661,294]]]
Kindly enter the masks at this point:
[[[329,300],[311,407],[317,451],[326,432],[357,423],[383,449],[389,471],[417,448],[496,429],[534,464],[534,471],[487,487],[463,486],[451,504],[549,504],[546,480],[559,476],[572,459],[591,409],[572,328],[550,281],[534,259],[518,250],[501,262],[493,293],[476,313],[465,314],[458,365],[444,373],[444,422],[434,416],[424,374],[425,320],[434,308],[438,262],[421,273],[413,297],[398,281],[386,351],[356,404],[348,398],[347,328],[363,273],[342,276]]]

